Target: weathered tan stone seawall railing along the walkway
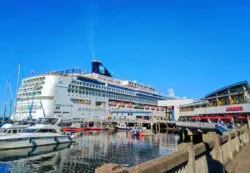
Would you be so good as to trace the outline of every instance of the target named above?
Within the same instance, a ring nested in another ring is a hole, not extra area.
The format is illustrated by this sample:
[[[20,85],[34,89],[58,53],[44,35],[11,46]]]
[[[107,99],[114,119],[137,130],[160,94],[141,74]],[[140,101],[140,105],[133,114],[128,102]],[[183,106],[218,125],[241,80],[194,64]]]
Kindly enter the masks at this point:
[[[247,127],[234,130],[222,136],[207,134],[204,142],[193,145],[183,143],[178,150],[131,168],[117,164],[104,164],[95,173],[220,173],[224,165],[249,143]]]

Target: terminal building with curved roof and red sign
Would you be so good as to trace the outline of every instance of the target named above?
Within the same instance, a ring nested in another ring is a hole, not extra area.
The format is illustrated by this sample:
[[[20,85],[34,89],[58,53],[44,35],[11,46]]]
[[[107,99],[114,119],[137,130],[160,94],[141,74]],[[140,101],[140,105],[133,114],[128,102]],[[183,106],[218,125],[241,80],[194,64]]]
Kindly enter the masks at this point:
[[[250,88],[238,82],[207,94],[203,99],[179,106],[179,120],[240,120],[250,116]]]

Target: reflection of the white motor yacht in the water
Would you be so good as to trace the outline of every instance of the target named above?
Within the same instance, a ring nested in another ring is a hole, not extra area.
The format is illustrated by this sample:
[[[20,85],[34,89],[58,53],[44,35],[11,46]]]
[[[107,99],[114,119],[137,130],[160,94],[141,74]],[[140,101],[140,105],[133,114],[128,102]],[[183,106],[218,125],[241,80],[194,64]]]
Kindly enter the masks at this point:
[[[58,151],[69,148],[71,144],[60,144],[41,146],[33,148],[13,149],[13,150],[2,150],[0,151],[1,161],[15,161],[15,160],[36,160],[42,157],[54,156]]]

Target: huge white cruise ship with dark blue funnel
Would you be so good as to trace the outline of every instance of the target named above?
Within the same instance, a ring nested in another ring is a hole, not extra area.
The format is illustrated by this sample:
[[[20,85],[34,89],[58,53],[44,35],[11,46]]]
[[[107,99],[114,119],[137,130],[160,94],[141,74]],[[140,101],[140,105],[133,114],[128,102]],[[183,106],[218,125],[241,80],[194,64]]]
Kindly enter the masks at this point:
[[[167,99],[148,85],[112,77],[97,60],[92,71],[50,72],[22,80],[14,119],[57,116],[63,119],[164,118]]]

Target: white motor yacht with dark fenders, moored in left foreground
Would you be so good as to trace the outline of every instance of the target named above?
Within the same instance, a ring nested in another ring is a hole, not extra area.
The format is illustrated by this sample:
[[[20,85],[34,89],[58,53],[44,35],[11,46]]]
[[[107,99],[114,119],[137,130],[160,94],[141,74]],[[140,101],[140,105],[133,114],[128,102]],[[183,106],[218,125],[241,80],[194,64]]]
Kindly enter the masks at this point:
[[[60,121],[56,117],[40,118],[38,124],[21,133],[0,136],[0,150],[71,143],[72,138],[61,133]]]

